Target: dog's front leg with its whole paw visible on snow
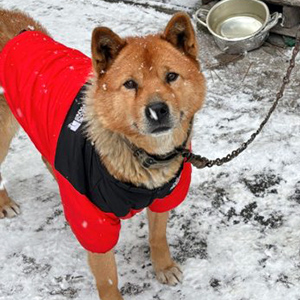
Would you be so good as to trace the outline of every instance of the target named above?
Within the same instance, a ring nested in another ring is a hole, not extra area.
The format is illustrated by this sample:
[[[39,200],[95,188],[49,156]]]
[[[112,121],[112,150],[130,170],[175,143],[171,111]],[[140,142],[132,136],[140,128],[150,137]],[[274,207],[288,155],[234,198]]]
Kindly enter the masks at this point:
[[[173,261],[167,242],[169,213],[154,213],[147,210],[149,219],[149,242],[151,260],[159,282],[176,285],[182,281],[182,271]]]

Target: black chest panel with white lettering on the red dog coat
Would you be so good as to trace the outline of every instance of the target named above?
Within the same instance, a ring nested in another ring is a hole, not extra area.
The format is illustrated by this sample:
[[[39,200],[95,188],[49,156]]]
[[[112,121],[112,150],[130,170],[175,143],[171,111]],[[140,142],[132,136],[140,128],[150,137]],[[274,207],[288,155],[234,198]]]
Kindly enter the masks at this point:
[[[145,208],[155,199],[169,195],[179,180],[182,167],[172,180],[156,189],[136,187],[108,173],[84,134],[85,89],[83,86],[79,91],[62,126],[55,154],[55,169],[99,209],[114,213],[117,217],[124,217],[131,209]]]

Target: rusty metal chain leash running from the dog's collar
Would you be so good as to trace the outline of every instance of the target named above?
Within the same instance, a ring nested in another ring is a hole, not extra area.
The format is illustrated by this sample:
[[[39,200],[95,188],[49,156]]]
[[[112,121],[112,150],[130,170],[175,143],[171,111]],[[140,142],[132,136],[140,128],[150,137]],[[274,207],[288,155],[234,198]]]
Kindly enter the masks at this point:
[[[252,133],[252,135],[246,142],[242,143],[242,145],[239,148],[233,150],[230,154],[227,154],[226,156],[224,156],[222,158],[216,158],[216,159],[212,159],[212,160],[210,160],[206,157],[203,157],[201,155],[193,154],[187,149],[183,149],[183,148],[177,149],[177,151],[186,159],[186,161],[190,162],[193,166],[195,166],[198,169],[202,169],[205,167],[211,168],[213,166],[221,166],[221,165],[231,161],[232,159],[234,159],[235,157],[240,155],[244,150],[246,150],[247,147],[255,140],[257,135],[262,131],[262,129],[264,128],[264,126],[266,125],[268,120],[270,119],[272,113],[274,112],[275,108],[277,107],[279,100],[283,97],[285,88],[290,82],[291,73],[295,67],[296,56],[297,56],[299,50],[300,50],[300,26],[299,26],[297,34],[296,34],[296,44],[293,49],[292,57],[290,59],[289,66],[287,68],[286,75],[283,77],[281,88],[280,88],[279,92],[276,94],[275,101],[274,101],[273,105],[271,106],[267,116],[261,122],[258,129],[254,133]]]

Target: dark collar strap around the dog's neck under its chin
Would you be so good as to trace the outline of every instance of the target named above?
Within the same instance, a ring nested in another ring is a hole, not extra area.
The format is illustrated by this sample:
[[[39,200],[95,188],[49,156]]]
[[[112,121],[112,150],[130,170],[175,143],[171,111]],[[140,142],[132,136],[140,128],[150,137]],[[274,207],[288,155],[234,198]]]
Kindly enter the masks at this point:
[[[133,156],[136,157],[136,159],[145,169],[157,169],[169,165],[176,157],[182,155],[182,149],[186,147],[187,141],[192,132],[192,124],[193,119],[190,122],[190,127],[185,141],[179,147],[164,155],[149,154],[144,149],[132,144],[130,141],[128,141],[128,139],[124,138],[124,141],[131,150]]]

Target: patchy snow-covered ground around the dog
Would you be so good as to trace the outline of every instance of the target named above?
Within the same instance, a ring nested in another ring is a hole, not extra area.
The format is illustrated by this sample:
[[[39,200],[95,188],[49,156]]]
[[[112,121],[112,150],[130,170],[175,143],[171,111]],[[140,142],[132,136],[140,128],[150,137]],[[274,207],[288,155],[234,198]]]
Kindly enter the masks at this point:
[[[58,41],[89,54],[96,25],[121,36],[141,35],[162,30],[170,18],[129,2],[0,0],[0,5],[25,10]],[[189,11],[199,3],[131,2]],[[199,40],[208,94],[196,117],[193,150],[215,158],[256,129],[291,51],[265,45],[218,66],[220,52],[211,36],[199,30]],[[184,270],[182,285],[155,280],[145,214],[123,223],[117,260],[125,299],[300,299],[300,58],[297,62],[286,96],[257,141],[225,166],[194,170],[188,199],[172,212],[169,241]],[[2,172],[22,214],[0,221],[0,299],[96,300],[85,251],[65,222],[56,184],[23,132]]]

